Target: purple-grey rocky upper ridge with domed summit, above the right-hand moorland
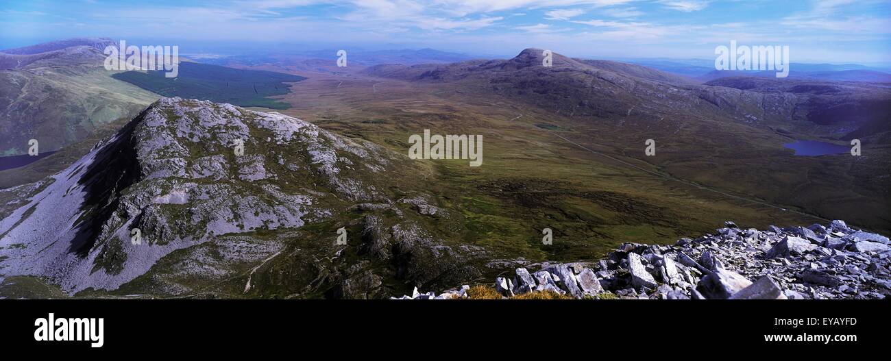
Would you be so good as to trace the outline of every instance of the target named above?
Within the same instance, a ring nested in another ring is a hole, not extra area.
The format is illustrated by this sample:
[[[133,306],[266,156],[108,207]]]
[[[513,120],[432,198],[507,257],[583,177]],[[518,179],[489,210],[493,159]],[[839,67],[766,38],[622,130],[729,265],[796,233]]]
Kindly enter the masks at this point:
[[[666,119],[674,127],[678,119],[672,118],[726,119],[833,138],[852,132],[876,135],[891,123],[887,86],[770,78],[722,78],[698,85],[640,65],[571,59],[559,53],[553,53],[553,66],[545,68],[542,52],[526,49],[509,60],[447,65],[385,64],[363,72],[410,81],[458,82],[576,118],[638,114]],[[823,127],[827,125],[832,127]]]

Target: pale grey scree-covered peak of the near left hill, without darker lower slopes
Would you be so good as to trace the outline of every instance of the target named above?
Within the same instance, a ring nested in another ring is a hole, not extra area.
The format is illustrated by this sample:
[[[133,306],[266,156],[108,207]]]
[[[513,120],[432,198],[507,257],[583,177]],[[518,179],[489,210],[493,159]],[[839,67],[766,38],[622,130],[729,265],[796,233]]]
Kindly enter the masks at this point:
[[[16,260],[4,273],[114,289],[174,250],[331,217],[330,198],[382,201],[371,178],[391,160],[279,113],[161,98],[21,199],[17,222],[0,225],[25,245],[0,250]],[[143,244],[130,242],[134,229]]]

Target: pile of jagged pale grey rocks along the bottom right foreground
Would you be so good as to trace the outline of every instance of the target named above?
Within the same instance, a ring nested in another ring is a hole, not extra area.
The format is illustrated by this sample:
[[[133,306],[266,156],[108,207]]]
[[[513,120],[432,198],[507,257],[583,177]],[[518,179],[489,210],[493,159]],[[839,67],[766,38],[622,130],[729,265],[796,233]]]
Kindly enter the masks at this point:
[[[624,243],[596,263],[543,263],[497,277],[504,298],[552,291],[576,299],[885,299],[891,293],[888,238],[827,226],[740,229],[732,222],[673,246]],[[469,286],[400,299],[467,298]]]

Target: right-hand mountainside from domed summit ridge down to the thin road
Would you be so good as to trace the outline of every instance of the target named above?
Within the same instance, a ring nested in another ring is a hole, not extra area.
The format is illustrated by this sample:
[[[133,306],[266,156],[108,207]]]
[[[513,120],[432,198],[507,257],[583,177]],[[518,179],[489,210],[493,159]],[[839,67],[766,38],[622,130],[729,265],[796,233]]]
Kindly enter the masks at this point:
[[[380,65],[364,74],[437,87],[454,103],[509,108],[519,122],[535,119],[535,132],[546,129],[692,187],[888,229],[891,178],[875,176],[891,169],[885,87],[835,83],[829,89],[838,93],[822,94],[825,84],[698,85],[640,66],[554,53],[553,66],[544,67],[542,59],[541,49],[526,49],[509,60]],[[520,136],[529,136],[524,131]],[[802,139],[850,146],[846,138],[854,135],[862,139],[859,157],[801,157],[784,146]],[[655,156],[643,152],[648,139]]]

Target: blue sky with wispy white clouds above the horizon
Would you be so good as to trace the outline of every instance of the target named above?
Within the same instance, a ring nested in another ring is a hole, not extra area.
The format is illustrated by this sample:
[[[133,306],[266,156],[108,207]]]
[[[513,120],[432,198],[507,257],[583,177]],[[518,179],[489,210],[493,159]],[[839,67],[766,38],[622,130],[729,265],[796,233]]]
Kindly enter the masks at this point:
[[[891,63],[891,0],[5,0],[0,48],[68,37],[181,53],[362,47],[507,57],[714,59],[789,45],[791,62]],[[148,44],[146,44],[148,43]]]

